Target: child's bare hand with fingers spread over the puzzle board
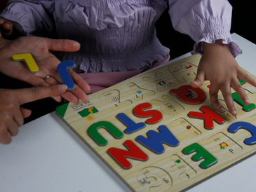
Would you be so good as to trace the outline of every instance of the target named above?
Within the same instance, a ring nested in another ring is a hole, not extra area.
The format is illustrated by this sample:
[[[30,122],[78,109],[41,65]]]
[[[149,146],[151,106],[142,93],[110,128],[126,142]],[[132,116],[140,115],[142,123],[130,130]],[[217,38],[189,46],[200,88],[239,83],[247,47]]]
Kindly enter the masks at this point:
[[[198,88],[203,84],[203,81],[209,80],[210,101],[213,107],[216,109],[220,109],[221,107],[217,97],[220,90],[227,104],[227,108],[231,114],[236,116],[234,101],[231,97],[231,88],[238,92],[238,95],[240,95],[245,104],[249,104],[250,101],[241,83],[239,83],[238,78],[243,79],[255,87],[256,81],[239,67],[229,50],[229,46],[217,41],[213,44],[203,43],[203,48],[203,56],[198,65],[197,76],[196,79],[191,82],[191,86]]]

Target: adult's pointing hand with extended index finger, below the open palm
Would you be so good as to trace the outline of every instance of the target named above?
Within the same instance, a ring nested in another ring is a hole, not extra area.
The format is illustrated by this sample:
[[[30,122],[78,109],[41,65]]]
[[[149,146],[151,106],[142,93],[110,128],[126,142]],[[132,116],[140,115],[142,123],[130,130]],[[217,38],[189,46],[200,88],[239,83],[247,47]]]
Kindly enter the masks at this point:
[[[19,90],[0,90],[0,143],[8,144],[12,137],[18,135],[18,127],[24,123],[24,118],[31,111],[20,107],[27,102],[33,102],[45,97],[60,95],[67,91],[67,85],[52,85]]]

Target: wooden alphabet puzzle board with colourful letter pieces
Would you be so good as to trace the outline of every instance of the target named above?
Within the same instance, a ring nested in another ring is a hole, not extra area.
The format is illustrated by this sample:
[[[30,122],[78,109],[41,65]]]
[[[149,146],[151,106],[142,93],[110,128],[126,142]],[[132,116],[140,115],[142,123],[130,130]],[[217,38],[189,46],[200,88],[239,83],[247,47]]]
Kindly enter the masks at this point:
[[[256,88],[240,80],[238,116],[210,107],[209,82],[191,88],[200,55],[63,104],[57,114],[133,191],[181,191],[256,151]]]

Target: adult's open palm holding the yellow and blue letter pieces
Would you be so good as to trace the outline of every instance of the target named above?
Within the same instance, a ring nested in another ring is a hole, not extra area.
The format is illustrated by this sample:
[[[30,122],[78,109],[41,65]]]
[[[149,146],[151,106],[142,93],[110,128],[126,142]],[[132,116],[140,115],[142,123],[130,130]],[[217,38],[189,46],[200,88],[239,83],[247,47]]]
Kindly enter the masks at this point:
[[[34,86],[55,85],[62,82],[57,71],[60,60],[50,53],[50,50],[74,52],[79,48],[80,44],[76,41],[55,40],[37,36],[25,36],[14,41],[0,39],[0,71],[7,76],[18,78]],[[11,60],[11,56],[17,53],[32,53],[39,66],[39,71],[33,74],[25,64]],[[54,78],[45,78],[48,75]],[[74,71],[71,71],[71,76],[76,86],[62,94],[62,97],[74,103],[79,102],[79,99],[87,102],[86,93],[90,92],[90,86]],[[61,97],[55,97],[55,100],[60,101]]]

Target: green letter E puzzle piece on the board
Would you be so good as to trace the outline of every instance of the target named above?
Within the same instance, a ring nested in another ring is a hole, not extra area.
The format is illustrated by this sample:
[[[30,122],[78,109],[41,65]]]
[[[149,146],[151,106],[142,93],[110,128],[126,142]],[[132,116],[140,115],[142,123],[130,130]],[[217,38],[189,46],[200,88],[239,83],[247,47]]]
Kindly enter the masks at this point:
[[[189,155],[190,153],[196,152],[196,154],[194,154],[191,159],[194,161],[198,161],[201,159],[204,159],[199,166],[203,169],[207,169],[208,167],[214,165],[215,163],[217,163],[217,158],[215,158],[215,156],[213,156],[211,153],[209,153],[208,151],[206,151],[206,149],[203,148],[203,146],[201,146],[198,143],[194,143],[191,144],[189,146],[186,146],[182,152],[186,155]]]

